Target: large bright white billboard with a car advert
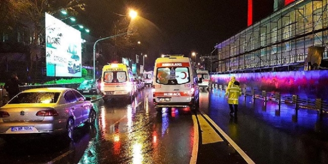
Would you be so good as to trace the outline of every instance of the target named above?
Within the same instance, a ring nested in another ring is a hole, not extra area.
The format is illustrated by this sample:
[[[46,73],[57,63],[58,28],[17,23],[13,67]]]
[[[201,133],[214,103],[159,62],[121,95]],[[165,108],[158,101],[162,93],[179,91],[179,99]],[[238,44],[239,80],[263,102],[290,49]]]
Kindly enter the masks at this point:
[[[82,77],[81,32],[46,13],[46,68],[49,77]]]

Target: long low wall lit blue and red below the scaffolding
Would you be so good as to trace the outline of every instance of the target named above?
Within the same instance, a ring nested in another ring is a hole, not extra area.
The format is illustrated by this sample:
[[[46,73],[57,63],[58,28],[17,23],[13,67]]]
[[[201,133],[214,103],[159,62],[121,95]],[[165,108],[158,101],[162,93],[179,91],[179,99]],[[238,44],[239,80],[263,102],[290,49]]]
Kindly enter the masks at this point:
[[[211,75],[211,81],[227,85],[232,76],[243,88],[328,100],[328,70]]]

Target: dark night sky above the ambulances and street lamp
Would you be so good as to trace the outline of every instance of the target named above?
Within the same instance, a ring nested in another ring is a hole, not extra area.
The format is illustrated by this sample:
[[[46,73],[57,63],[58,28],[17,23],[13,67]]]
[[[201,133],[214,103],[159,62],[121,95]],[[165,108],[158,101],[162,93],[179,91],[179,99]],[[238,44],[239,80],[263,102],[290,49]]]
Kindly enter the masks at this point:
[[[273,12],[273,0],[253,0],[253,22]],[[106,37],[128,8],[149,60],[160,54],[209,54],[213,47],[247,26],[247,0],[87,0],[80,14],[91,35]],[[138,21],[138,22],[137,22]]]

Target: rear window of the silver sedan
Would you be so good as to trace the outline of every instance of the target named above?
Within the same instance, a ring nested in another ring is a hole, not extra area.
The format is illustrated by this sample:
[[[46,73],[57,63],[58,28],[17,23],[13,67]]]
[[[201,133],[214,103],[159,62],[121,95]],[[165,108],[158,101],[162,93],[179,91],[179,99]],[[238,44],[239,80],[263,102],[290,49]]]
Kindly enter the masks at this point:
[[[19,93],[8,104],[22,103],[56,103],[60,92],[23,92]]]

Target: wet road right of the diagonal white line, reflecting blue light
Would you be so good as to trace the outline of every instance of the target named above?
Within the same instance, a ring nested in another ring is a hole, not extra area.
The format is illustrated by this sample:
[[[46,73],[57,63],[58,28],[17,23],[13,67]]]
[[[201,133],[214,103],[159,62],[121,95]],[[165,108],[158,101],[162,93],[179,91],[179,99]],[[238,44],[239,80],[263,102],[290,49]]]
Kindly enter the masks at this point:
[[[296,112],[294,104],[284,103],[279,112],[277,102],[253,101],[242,95],[238,117],[231,117],[224,93],[218,89],[201,92],[201,110],[255,163],[321,164],[325,160],[318,155],[328,157],[327,115],[320,117],[318,111],[302,108]]]

